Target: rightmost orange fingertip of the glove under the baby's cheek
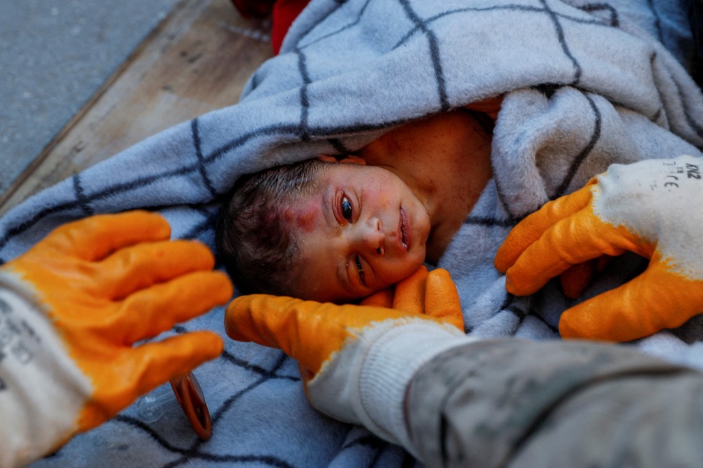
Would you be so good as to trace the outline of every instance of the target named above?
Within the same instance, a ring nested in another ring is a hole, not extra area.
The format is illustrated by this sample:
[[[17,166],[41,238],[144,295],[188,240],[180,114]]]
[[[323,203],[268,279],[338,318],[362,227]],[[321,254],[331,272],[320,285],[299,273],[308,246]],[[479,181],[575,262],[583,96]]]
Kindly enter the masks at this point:
[[[449,322],[459,330],[464,330],[459,293],[449,272],[444,268],[434,269],[427,274],[425,314]]]

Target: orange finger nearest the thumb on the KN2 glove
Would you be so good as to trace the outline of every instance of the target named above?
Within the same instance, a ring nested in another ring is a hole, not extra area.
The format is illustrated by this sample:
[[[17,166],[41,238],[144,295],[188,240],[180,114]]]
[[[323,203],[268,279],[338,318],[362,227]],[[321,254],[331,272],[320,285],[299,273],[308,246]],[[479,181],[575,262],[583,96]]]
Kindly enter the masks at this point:
[[[505,287],[529,295],[572,265],[625,250],[643,254],[641,241],[624,228],[602,222],[589,208],[557,222],[524,250],[505,273]]]

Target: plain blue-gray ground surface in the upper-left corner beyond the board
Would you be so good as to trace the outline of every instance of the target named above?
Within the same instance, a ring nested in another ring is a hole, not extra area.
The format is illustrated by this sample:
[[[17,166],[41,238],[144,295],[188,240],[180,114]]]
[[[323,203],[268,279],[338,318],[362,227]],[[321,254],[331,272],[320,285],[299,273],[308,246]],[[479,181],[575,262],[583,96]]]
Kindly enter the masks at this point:
[[[178,0],[0,0],[0,194]]]

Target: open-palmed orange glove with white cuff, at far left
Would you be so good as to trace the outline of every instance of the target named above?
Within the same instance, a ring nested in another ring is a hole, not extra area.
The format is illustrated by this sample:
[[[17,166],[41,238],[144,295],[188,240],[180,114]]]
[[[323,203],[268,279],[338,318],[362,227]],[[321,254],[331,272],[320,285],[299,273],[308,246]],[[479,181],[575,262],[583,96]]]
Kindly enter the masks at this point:
[[[224,304],[228,278],[160,215],[59,227],[0,267],[0,465],[24,465],[221,354],[215,333],[133,347]]]

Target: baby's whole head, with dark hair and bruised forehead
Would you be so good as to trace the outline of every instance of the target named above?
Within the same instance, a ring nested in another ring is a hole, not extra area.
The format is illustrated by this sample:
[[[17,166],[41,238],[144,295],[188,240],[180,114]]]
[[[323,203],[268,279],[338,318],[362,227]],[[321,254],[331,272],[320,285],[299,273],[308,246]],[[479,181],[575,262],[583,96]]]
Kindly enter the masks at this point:
[[[341,302],[423,265],[427,210],[385,168],[309,160],[237,181],[217,248],[242,293]]]

